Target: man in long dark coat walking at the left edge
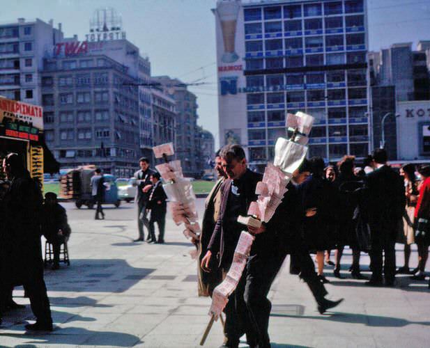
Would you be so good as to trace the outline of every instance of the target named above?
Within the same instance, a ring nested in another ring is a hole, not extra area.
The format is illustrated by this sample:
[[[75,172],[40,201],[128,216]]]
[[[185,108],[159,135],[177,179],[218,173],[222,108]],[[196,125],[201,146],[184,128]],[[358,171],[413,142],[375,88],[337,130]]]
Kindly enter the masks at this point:
[[[5,219],[0,241],[2,293],[16,284],[22,284],[36,316],[36,323],[27,324],[26,329],[52,331],[40,246],[42,193],[17,154],[6,156],[3,171],[11,184],[3,198]]]

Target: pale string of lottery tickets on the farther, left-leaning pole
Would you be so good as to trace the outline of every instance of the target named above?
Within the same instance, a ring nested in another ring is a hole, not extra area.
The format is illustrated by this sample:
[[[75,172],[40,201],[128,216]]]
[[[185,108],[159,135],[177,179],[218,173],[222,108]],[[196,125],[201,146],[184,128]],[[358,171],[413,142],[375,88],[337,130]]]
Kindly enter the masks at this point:
[[[153,148],[155,157],[164,158],[166,163],[155,166],[164,180],[163,189],[169,200],[168,206],[177,226],[185,224],[183,231],[187,239],[198,240],[200,226],[198,223],[196,195],[190,179],[183,177],[181,161],[167,161],[167,156],[174,155],[172,143],[166,143]]]

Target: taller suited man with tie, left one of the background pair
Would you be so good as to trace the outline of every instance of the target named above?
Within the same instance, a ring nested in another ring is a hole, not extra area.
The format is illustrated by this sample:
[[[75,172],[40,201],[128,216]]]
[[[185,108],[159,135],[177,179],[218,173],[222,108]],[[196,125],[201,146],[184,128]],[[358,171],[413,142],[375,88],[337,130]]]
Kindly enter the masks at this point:
[[[149,168],[149,159],[141,157],[139,159],[140,169],[134,175],[136,179],[137,192],[135,203],[137,204],[137,226],[139,228],[139,237],[134,242],[143,242],[145,239],[144,226],[149,231],[149,221],[146,218],[146,205],[148,204],[149,190],[151,189],[151,174],[155,173],[153,169]],[[151,235],[148,232],[148,240]]]

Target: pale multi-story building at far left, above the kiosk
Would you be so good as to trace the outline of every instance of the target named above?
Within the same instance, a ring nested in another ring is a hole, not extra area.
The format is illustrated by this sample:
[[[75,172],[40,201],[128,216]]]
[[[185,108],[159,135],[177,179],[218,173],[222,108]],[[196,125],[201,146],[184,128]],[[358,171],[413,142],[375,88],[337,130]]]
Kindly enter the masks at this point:
[[[59,29],[40,19],[17,19],[0,24],[0,95],[30,104],[42,104],[40,70],[43,56],[56,42],[62,40]]]

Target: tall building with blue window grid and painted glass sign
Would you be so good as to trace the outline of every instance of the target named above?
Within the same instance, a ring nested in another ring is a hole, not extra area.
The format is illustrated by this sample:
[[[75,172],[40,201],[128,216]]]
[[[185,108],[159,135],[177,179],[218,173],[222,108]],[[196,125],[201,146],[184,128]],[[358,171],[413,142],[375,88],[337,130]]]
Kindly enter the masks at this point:
[[[220,143],[257,168],[286,136],[286,113],[316,118],[309,156],[369,153],[364,0],[217,1]]]

